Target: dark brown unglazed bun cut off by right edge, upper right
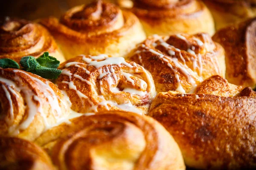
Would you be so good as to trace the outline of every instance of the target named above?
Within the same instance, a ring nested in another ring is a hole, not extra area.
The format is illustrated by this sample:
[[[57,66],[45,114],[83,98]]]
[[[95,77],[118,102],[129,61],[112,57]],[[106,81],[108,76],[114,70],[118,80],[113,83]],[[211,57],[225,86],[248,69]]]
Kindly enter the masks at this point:
[[[212,37],[225,49],[226,78],[235,85],[256,85],[256,18],[222,28]]]

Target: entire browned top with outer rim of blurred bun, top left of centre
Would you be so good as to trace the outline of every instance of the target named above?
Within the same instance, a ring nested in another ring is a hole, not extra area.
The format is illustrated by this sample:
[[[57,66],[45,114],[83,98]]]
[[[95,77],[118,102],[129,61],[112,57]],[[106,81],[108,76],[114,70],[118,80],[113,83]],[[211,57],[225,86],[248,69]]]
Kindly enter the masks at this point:
[[[77,42],[111,41],[124,35],[137,22],[131,12],[121,11],[118,6],[102,0],[73,7],[60,20],[49,17],[40,21],[54,35],[61,34]]]

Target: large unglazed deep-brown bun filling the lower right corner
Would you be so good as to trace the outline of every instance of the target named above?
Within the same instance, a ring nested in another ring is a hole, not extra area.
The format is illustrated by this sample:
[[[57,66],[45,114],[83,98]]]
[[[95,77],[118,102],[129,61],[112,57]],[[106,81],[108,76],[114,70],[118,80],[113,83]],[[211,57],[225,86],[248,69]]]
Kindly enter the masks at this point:
[[[149,116],[174,137],[196,169],[256,168],[256,92],[213,76],[195,94],[159,93]]]

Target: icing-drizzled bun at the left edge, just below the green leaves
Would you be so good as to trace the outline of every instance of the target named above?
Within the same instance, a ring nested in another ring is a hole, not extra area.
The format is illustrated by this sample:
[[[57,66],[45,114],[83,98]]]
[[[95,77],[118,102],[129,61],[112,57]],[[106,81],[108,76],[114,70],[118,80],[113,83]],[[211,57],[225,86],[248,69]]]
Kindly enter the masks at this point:
[[[34,140],[67,116],[61,91],[26,71],[0,68],[0,136]]]

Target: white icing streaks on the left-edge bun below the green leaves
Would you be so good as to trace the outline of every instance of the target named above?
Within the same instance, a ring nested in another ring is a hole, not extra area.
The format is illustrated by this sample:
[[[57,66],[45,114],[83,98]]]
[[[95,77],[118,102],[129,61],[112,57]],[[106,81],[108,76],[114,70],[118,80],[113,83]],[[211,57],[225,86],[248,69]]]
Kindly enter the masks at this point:
[[[50,105],[50,109],[52,111],[52,114],[55,118],[55,121],[58,122],[58,119],[61,116],[61,108],[59,106],[59,100],[55,94],[55,92],[52,90],[52,88],[50,88],[49,86],[49,82],[43,82],[38,78],[32,77],[31,75],[27,74],[24,71],[20,71],[20,70],[13,70],[14,73],[20,72],[21,74],[26,75],[27,77],[29,77],[29,79],[32,79],[32,81],[37,84],[39,91],[41,91],[44,94],[44,97],[47,98],[47,102]],[[14,79],[18,82],[17,84],[11,80],[5,79],[3,77],[1,77],[1,82],[4,82],[8,89],[10,91],[12,91],[12,94],[15,94],[17,97],[18,95],[16,94],[16,92],[12,89],[15,88],[17,92],[22,92],[24,94],[24,100],[26,101],[26,111],[28,112],[28,116],[25,120],[23,120],[23,122],[20,123],[20,125],[12,125],[11,127],[9,127],[9,133],[10,135],[14,135],[16,136],[17,134],[19,134],[19,130],[25,130],[26,128],[29,127],[29,125],[32,123],[32,121],[35,118],[35,115],[37,113],[40,113],[41,116],[44,119],[44,125],[45,125],[45,129],[49,128],[49,122],[47,121],[47,117],[46,114],[44,113],[44,104],[42,102],[42,99],[38,97],[38,95],[32,91],[29,87],[27,86],[22,86],[22,80],[20,79],[20,77],[15,76]],[[4,90],[7,90],[6,88]],[[9,93],[6,92],[7,97],[10,95]],[[11,98],[9,98],[9,103],[11,108],[12,106],[12,102],[11,102]],[[61,102],[61,101],[60,101]],[[65,106],[65,105],[64,105]],[[12,108],[13,111],[13,108]],[[13,114],[12,114],[13,117]]]

